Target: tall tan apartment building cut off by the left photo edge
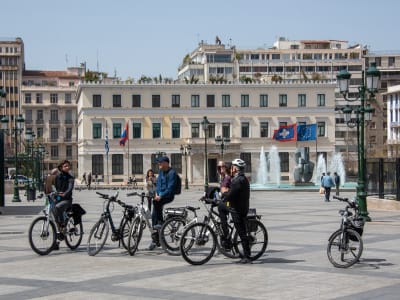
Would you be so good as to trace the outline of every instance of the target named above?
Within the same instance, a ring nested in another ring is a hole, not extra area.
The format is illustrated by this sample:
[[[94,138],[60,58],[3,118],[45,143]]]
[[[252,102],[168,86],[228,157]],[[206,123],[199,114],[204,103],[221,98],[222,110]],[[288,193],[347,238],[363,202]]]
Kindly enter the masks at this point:
[[[24,66],[22,39],[0,37],[0,89],[7,93],[5,107],[0,108],[0,119],[4,116],[8,118],[8,128],[15,126],[15,118],[21,113],[20,87]],[[18,141],[15,141],[13,136],[5,136],[4,141],[5,157],[14,155],[14,143],[19,144]]]

